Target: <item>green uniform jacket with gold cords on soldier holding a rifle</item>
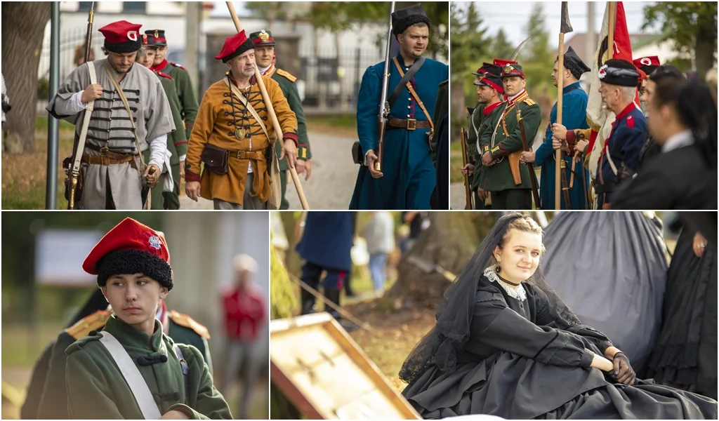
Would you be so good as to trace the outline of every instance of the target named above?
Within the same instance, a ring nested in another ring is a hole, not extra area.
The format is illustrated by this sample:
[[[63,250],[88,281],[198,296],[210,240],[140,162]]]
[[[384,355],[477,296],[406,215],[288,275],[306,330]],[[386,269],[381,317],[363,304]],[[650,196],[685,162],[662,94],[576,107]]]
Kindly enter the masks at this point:
[[[529,98],[525,92],[513,101],[500,104],[492,114],[482,121],[480,127],[481,154],[489,151],[495,165],[485,167],[483,170],[484,189],[489,192],[500,192],[512,189],[531,189],[529,170],[526,165],[519,164],[520,184],[515,184],[510,168],[509,154],[522,150],[522,137],[517,123],[517,108],[521,111],[522,122],[528,146],[534,140],[539,124],[541,124],[541,110],[539,104]],[[481,162],[481,159],[480,159]]]

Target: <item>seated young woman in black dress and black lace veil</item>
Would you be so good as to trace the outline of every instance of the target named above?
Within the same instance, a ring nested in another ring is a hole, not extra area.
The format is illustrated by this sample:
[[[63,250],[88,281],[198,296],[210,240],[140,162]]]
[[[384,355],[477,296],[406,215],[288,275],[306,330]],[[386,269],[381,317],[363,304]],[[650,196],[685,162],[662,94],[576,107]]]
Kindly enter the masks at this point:
[[[717,418],[717,402],[636,379],[544,282],[541,228],[500,218],[400,371],[425,418]]]

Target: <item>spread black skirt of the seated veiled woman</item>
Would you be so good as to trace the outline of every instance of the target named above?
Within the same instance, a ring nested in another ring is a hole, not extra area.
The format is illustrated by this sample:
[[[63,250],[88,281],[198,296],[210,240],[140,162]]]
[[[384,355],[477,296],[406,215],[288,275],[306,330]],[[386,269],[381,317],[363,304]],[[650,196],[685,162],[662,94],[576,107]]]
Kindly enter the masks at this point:
[[[637,383],[611,384],[597,369],[549,366],[503,352],[453,373],[428,369],[402,394],[425,419],[717,419],[714,399]]]

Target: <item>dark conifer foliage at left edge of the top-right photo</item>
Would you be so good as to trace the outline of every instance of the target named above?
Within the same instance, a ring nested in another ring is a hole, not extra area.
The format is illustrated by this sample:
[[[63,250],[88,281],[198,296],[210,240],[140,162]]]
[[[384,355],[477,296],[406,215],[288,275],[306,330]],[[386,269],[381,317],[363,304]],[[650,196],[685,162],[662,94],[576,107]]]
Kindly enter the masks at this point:
[[[470,3],[464,10],[459,3],[452,3],[449,12],[449,26],[452,28],[452,84],[463,85],[467,96],[473,96],[474,99],[468,103],[474,103],[477,99],[472,85],[472,72],[482,62],[493,58],[483,23],[477,4]]]

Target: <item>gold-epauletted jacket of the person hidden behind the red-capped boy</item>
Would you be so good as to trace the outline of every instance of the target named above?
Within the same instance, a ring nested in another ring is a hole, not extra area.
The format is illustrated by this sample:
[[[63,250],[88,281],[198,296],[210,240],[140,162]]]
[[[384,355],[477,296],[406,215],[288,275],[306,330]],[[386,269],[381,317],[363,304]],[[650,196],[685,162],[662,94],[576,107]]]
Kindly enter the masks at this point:
[[[112,313],[105,310],[97,311],[79,320],[78,323],[75,323],[75,325],[60,333],[55,341],[55,345],[52,346],[50,368],[47,371],[42,397],[40,398],[40,402],[37,402],[39,407],[37,412],[38,419],[70,419],[67,405],[68,389],[65,387],[65,366],[67,364],[65,349],[78,339],[88,336],[88,333],[91,331],[102,330],[111,317],[111,314]],[[209,335],[206,334],[204,326],[199,325],[189,316],[175,311],[169,312],[168,323],[170,325],[168,336],[170,336],[175,343],[185,343],[198,348],[208,366],[209,373],[212,374],[212,360],[207,343]],[[188,328],[188,325],[193,325],[198,331]]]

